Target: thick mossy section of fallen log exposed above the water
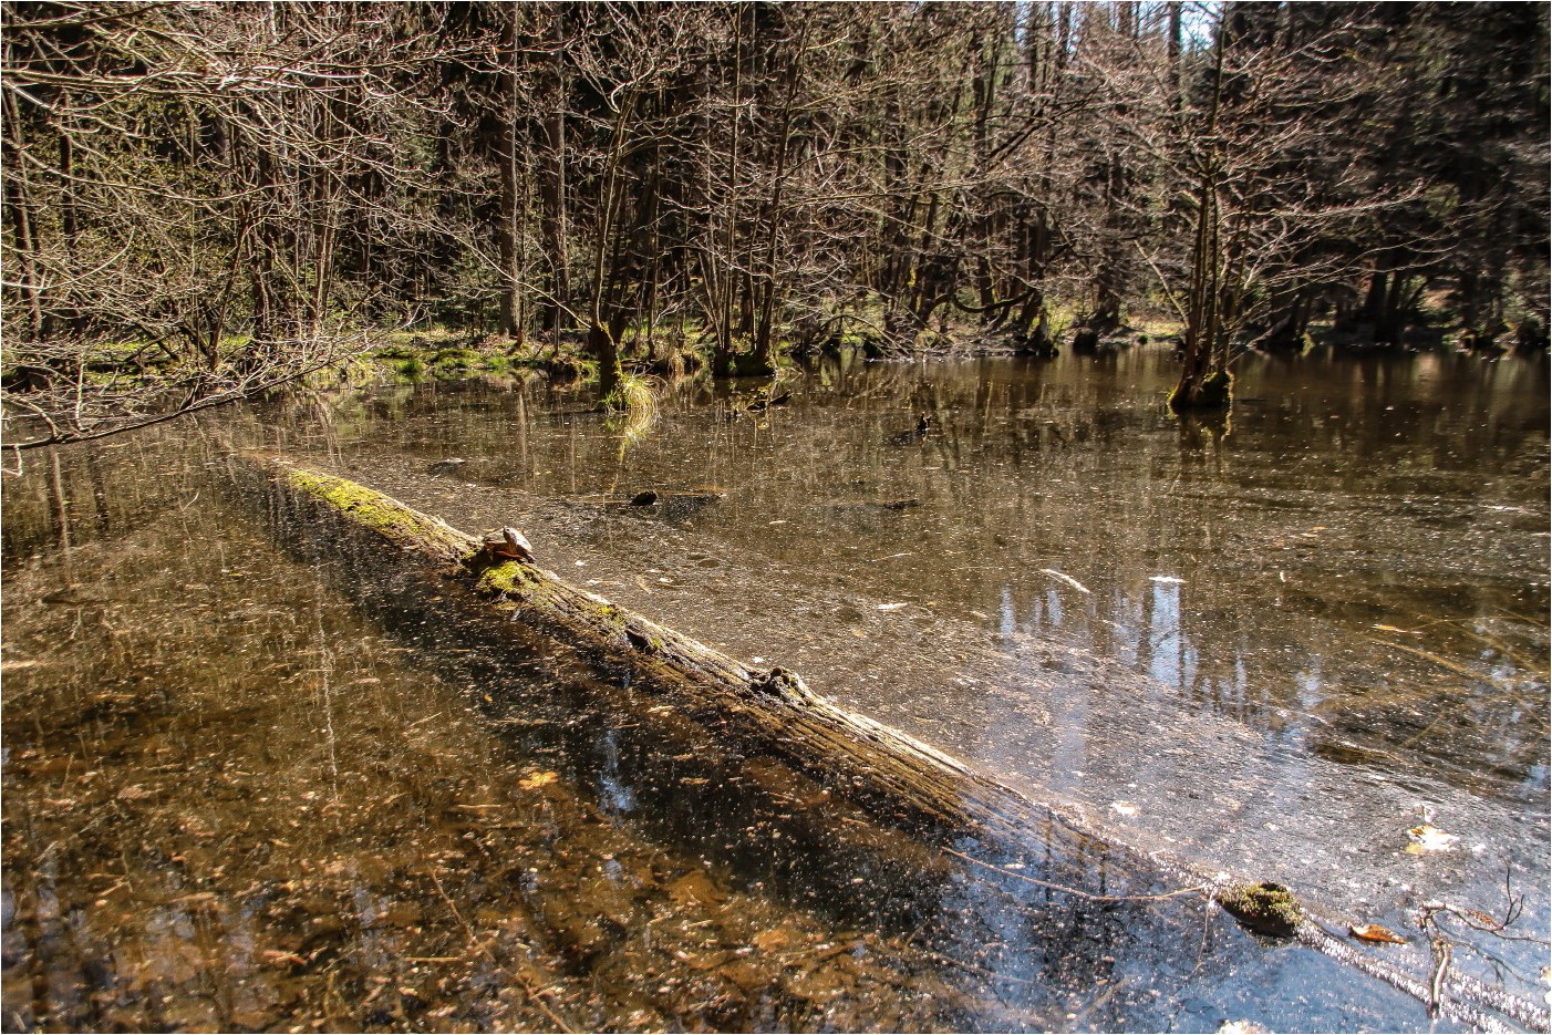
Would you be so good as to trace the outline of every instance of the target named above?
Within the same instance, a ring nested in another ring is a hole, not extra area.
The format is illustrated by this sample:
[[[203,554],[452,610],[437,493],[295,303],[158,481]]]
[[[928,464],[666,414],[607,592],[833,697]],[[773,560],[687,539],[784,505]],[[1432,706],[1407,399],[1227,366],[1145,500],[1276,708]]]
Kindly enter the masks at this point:
[[[250,452],[270,483],[377,535],[393,551],[444,565],[494,618],[515,618],[672,694],[675,708],[734,723],[869,813],[892,822],[1018,841],[1051,812],[897,729],[819,697],[782,667],[751,667],[689,636],[563,582],[537,563],[487,563],[481,540],[359,483]]]

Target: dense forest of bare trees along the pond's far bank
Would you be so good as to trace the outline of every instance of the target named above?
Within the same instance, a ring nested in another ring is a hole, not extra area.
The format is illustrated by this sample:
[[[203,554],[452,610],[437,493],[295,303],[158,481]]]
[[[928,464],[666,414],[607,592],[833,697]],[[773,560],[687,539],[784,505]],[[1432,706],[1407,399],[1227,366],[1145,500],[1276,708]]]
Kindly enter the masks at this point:
[[[1547,343],[1541,3],[3,5],[23,444],[514,362]],[[11,442],[16,445],[17,442]]]

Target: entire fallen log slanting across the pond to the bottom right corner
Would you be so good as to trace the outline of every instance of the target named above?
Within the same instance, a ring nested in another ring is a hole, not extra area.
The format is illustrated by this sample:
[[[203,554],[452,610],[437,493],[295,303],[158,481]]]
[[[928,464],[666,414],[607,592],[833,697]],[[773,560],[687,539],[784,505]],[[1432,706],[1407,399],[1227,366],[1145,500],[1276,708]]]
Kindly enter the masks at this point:
[[[635,683],[652,686],[675,711],[702,726],[736,731],[742,740],[759,745],[767,757],[833,790],[874,821],[925,839],[948,857],[984,864],[953,846],[968,843],[993,855],[1017,852],[1032,830],[1060,822],[1080,838],[1105,841],[1128,855],[1139,871],[1183,886],[1169,894],[1211,894],[1246,926],[1294,934],[1310,948],[1386,981],[1445,1016],[1485,1030],[1505,1030],[1485,1012],[1491,1009],[1536,1030],[1549,1027],[1546,1009],[1504,988],[1453,971],[1440,971],[1432,979],[1408,973],[1332,937],[1327,928],[1346,925],[1318,922],[1285,889],[1229,880],[1159,852],[1093,835],[1080,816],[1032,802],[908,734],[819,697],[787,669],[745,666],[579,590],[537,563],[506,559],[478,538],[391,497],[270,453],[248,452],[237,462],[262,476],[265,490],[278,493],[287,506],[332,520],[341,532],[368,534],[390,554],[441,566],[442,574],[461,583],[492,619],[515,618],[611,669],[629,672]],[[1276,889],[1274,897],[1268,900],[1260,888]],[[1260,906],[1265,902],[1276,905],[1266,911]]]

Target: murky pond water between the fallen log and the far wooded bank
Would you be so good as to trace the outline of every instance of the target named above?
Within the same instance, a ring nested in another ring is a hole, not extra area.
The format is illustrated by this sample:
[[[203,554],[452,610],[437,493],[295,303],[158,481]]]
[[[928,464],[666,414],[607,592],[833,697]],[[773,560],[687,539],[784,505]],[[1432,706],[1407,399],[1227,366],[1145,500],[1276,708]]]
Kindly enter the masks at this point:
[[[1209,422],[1175,374],[835,362],[664,386],[647,428],[425,382],[275,438],[1107,838],[1423,945],[1431,900],[1544,942],[1546,362],[1246,357]],[[1478,948],[1544,995],[1538,942]]]

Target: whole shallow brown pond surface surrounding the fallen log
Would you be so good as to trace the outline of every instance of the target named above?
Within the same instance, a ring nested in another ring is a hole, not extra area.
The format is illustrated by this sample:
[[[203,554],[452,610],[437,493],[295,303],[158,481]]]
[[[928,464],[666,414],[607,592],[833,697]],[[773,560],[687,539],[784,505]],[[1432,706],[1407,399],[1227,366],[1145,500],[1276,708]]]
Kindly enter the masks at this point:
[[[520,524],[573,582],[1090,832],[1403,931],[1398,959],[1426,965],[1425,900],[1523,897],[1544,939],[1546,363],[1252,358],[1217,425],[1167,416],[1170,368],[829,365],[782,407],[667,389],[650,422],[427,382],[29,456],[6,1027],[1426,1027],[1200,897],[1142,898],[1169,889],[1082,833],[1001,871],[922,857],[326,559],[227,462],[281,447]],[[1423,810],[1448,850],[1409,850]],[[1544,948],[1456,934],[1540,995]]]

